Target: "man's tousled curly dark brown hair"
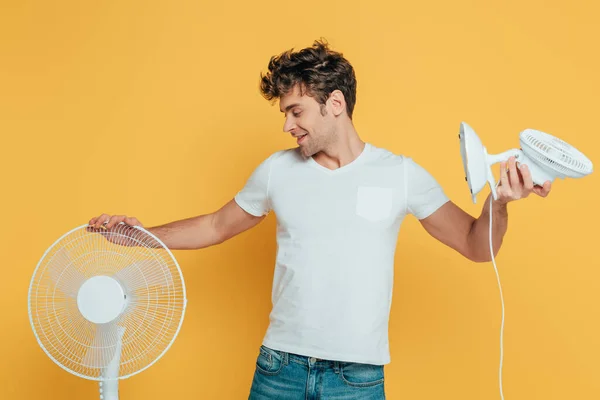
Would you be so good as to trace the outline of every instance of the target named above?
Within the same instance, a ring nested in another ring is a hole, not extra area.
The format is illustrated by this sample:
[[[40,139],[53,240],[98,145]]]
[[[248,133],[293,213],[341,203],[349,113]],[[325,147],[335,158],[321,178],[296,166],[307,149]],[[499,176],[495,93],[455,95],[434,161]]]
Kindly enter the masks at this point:
[[[331,92],[340,90],[348,117],[352,119],[356,103],[354,68],[342,53],[331,50],[324,39],[315,40],[311,47],[297,52],[290,49],[271,57],[268,68],[269,72],[260,76],[260,91],[265,99],[279,99],[299,85],[301,94],[306,91],[323,106]]]

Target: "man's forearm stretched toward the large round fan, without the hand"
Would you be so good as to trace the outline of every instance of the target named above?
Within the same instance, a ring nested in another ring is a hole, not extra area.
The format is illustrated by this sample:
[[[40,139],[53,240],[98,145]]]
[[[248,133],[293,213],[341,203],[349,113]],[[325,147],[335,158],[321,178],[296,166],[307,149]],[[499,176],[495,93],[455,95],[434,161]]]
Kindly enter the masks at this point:
[[[213,214],[200,215],[148,228],[171,250],[193,250],[220,243]]]

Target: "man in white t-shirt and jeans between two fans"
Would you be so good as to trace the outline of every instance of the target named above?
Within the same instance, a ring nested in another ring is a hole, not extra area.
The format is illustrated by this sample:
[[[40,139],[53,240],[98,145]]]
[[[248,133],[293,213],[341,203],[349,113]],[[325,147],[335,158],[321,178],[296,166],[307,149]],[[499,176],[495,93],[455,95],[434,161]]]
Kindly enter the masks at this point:
[[[404,217],[474,262],[489,254],[489,197],[475,219],[411,158],[361,140],[352,123],[356,78],[341,53],[316,41],[272,57],[260,89],[279,100],[298,147],[264,160],[218,211],[149,228],[171,249],[201,249],[250,229],[274,211],[277,260],[270,324],[251,399],[383,399],[394,252]],[[508,165],[508,168],[507,168]],[[494,253],[507,204],[534,187],[525,165],[501,165],[493,203]],[[101,215],[90,225],[141,225]]]

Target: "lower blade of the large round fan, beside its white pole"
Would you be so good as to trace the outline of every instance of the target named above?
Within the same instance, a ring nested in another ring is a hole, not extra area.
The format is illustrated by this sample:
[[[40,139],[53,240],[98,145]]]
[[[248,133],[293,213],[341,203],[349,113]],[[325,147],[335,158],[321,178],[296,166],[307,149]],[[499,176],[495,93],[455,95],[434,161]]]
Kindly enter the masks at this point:
[[[96,335],[83,356],[81,364],[88,368],[100,368],[104,370],[115,357],[117,349],[120,356],[120,342],[124,332],[125,328],[120,327],[116,323],[96,325]]]

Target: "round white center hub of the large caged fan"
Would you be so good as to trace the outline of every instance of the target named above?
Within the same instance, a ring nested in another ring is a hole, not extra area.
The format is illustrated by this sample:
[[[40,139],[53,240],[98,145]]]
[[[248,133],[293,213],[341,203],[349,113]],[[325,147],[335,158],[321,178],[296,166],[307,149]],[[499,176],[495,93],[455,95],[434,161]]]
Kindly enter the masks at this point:
[[[110,276],[94,276],[77,292],[77,307],[90,322],[104,324],[117,318],[125,307],[125,292]]]

